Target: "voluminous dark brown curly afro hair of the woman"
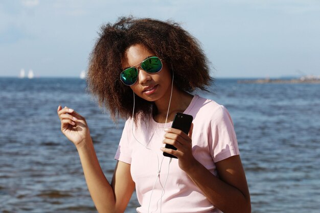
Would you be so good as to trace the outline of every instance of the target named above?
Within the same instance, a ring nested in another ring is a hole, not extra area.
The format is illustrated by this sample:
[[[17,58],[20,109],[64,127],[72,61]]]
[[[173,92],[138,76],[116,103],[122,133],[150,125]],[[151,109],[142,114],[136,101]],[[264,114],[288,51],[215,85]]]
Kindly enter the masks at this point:
[[[99,38],[89,57],[87,90],[101,108],[110,112],[113,121],[132,116],[133,94],[120,80],[124,53],[133,44],[142,44],[164,60],[174,72],[177,88],[193,92],[207,91],[213,81],[209,61],[198,41],[178,23],[151,18],[120,17],[114,24],[101,27]],[[150,115],[154,107],[136,96],[134,121],[139,115]]]

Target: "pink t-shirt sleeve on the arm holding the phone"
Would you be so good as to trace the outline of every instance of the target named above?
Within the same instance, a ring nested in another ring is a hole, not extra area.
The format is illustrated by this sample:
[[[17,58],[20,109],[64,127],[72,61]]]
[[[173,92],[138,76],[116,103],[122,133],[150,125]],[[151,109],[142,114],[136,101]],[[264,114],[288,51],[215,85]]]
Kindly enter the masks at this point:
[[[208,130],[209,146],[214,162],[239,155],[238,141],[231,116],[224,106],[214,113]]]

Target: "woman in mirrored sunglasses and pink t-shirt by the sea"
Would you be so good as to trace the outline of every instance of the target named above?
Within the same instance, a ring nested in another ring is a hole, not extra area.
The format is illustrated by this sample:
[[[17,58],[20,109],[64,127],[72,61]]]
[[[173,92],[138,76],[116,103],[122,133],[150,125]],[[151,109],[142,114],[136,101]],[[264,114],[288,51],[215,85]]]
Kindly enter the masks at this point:
[[[196,39],[176,23],[123,17],[102,27],[90,56],[88,89],[113,120],[128,119],[111,183],[84,117],[58,107],[61,131],[78,150],[99,212],[124,212],[134,190],[138,212],[250,212],[230,115],[191,94],[211,81]],[[177,112],[193,116],[189,134],[170,128]]]

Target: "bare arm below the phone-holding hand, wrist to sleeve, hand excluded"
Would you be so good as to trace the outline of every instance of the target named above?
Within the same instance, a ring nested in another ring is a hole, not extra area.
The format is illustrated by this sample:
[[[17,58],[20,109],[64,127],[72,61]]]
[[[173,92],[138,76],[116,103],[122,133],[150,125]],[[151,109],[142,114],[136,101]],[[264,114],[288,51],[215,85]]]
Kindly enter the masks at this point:
[[[195,160],[187,174],[224,213],[251,212],[250,195],[239,155],[216,162],[219,178]]]

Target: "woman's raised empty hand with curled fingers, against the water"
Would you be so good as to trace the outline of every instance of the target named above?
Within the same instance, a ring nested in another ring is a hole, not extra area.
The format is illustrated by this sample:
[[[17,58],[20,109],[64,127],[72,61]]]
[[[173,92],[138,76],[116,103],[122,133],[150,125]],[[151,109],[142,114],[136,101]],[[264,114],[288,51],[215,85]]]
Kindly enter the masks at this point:
[[[57,113],[61,121],[61,132],[77,148],[85,144],[85,141],[90,138],[90,132],[84,117],[68,107],[59,106]]]

